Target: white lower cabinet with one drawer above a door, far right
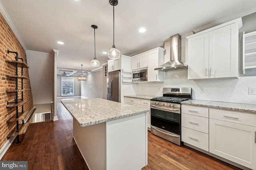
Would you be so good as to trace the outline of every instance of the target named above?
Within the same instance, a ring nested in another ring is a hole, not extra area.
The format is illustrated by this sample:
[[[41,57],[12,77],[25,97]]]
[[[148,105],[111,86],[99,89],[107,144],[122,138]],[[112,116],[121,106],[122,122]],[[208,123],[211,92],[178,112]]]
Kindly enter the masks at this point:
[[[209,110],[209,151],[256,169],[256,115]]]

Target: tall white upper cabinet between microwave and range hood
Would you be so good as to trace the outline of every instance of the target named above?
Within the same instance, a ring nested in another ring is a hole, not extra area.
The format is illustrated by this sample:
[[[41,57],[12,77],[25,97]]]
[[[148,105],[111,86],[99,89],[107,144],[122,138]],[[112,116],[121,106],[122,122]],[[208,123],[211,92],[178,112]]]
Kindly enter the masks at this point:
[[[148,82],[164,81],[164,72],[154,70],[156,67],[164,63],[164,49],[158,47],[148,51]]]

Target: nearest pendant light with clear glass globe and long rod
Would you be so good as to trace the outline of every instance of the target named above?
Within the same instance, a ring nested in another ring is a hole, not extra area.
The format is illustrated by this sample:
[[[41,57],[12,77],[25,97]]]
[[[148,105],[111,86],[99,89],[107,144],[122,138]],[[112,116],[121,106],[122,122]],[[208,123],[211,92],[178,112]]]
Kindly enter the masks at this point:
[[[115,28],[115,15],[114,15],[114,6],[118,4],[118,0],[109,0],[110,5],[113,6],[113,45],[112,47],[108,50],[108,58],[110,59],[118,59],[120,58],[120,51],[116,48],[114,44],[114,28]]]

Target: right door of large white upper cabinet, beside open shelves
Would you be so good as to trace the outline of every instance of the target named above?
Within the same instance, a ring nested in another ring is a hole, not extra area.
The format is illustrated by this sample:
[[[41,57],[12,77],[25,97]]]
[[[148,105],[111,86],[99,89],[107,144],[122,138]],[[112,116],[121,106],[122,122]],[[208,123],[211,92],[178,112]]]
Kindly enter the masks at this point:
[[[238,76],[236,23],[209,33],[209,70],[209,78]]]

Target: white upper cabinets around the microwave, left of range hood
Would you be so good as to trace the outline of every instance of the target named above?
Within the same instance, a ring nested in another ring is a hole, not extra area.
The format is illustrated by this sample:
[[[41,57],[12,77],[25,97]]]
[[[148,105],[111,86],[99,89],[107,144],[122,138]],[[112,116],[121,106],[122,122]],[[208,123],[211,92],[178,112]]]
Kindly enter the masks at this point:
[[[161,47],[150,49],[132,57],[132,70],[148,68],[148,82],[164,81],[164,72],[154,70],[164,63],[164,50]]]

